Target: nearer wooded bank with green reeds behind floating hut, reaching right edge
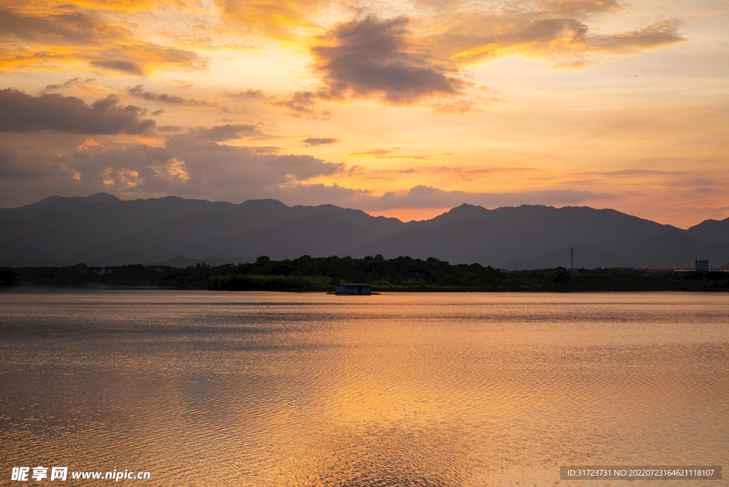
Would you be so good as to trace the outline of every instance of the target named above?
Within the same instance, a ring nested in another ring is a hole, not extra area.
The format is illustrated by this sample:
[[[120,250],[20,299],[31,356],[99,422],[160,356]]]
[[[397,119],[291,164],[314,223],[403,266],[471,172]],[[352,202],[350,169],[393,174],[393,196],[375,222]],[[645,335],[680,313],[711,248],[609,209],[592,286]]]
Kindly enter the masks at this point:
[[[434,257],[304,255],[276,261],[262,256],[211,279],[208,289],[326,290],[340,282],[366,282],[375,291],[728,291],[729,273],[649,275],[624,268],[506,271],[480,264],[450,265]]]

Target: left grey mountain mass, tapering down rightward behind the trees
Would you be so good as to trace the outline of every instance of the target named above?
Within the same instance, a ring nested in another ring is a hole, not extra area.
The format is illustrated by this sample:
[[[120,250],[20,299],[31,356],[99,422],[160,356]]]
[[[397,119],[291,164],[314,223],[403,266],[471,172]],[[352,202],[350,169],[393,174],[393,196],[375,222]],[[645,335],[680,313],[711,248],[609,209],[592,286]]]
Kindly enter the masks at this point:
[[[125,265],[211,256],[249,262],[266,254],[351,253],[408,224],[332,205],[240,205],[174,196],[124,201],[112,195],[46,198],[0,209],[0,265]],[[112,199],[113,198],[113,199]]]

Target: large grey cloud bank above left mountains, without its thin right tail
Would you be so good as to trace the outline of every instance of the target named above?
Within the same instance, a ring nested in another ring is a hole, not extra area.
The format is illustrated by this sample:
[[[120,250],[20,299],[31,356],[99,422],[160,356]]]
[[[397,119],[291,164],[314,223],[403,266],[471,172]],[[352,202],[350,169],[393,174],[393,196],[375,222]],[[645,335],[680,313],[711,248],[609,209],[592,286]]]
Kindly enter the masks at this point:
[[[0,149],[0,206],[100,191],[124,198],[179,195],[241,203],[276,198],[284,187],[344,168],[310,155],[277,155],[277,147],[233,147],[198,135],[171,136],[164,147],[90,144],[62,157]]]

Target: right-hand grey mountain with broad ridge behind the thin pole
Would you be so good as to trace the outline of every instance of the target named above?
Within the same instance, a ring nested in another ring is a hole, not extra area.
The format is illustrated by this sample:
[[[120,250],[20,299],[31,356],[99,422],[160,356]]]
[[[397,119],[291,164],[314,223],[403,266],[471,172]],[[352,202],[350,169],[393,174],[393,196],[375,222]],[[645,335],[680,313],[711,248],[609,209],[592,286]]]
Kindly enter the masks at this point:
[[[633,238],[684,232],[671,225],[631,217],[615,210],[587,207],[518,206],[487,210],[461,205],[448,213],[373,242],[362,252],[385,257],[434,256],[448,262],[479,262],[498,268],[642,266],[634,249],[616,252]],[[729,256],[729,255],[728,255]],[[693,262],[693,261],[692,261]],[[666,267],[686,266],[677,259]]]

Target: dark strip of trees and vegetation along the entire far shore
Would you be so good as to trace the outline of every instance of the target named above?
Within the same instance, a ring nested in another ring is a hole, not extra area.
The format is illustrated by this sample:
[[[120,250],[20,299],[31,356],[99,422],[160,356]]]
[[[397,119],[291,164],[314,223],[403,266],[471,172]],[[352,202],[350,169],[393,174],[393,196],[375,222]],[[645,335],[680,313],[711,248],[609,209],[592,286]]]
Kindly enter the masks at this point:
[[[185,269],[153,265],[87,268],[0,269],[0,285],[114,284],[150,285],[220,291],[330,291],[340,282],[366,282],[374,291],[438,292],[580,292],[580,291],[729,291],[729,273],[647,273],[644,270],[576,269],[501,270],[457,264],[430,257],[385,259],[381,255],[309,257]],[[103,272],[102,272],[103,271]]]

